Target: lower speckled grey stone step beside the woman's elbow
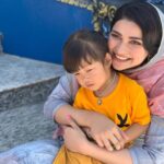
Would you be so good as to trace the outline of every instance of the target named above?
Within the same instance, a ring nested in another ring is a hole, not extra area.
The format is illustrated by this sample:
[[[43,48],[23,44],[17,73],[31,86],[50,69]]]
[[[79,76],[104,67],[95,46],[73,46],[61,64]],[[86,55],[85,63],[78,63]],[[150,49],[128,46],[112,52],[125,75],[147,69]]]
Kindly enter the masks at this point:
[[[43,114],[44,102],[0,113],[0,152],[17,144],[51,139],[56,128]]]

